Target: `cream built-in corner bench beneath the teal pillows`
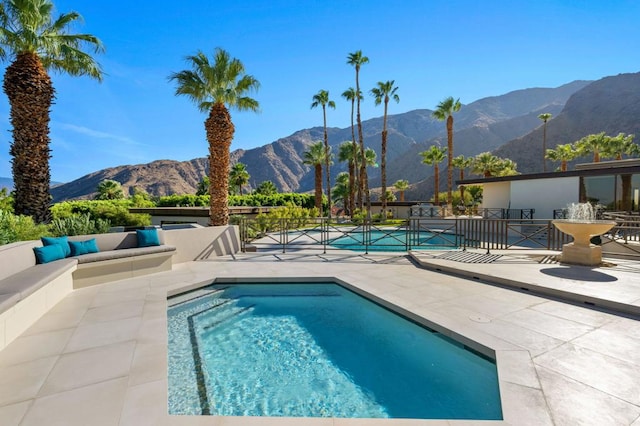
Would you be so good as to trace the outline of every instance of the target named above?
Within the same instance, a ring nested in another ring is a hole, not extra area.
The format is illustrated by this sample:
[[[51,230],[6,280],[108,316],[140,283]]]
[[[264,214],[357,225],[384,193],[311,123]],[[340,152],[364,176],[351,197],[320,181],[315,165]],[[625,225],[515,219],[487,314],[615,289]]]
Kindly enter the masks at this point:
[[[96,239],[98,253],[36,264],[40,241],[0,245],[0,350],[22,334],[74,288],[171,270],[176,248],[164,244],[138,247],[136,233],[69,237]]]

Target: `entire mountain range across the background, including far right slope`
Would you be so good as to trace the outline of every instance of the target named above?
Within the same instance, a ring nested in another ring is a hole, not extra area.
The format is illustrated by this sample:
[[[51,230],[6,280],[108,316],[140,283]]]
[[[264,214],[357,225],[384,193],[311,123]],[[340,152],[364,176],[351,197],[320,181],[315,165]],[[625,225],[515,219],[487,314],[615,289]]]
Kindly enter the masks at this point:
[[[480,152],[511,158],[522,173],[542,171],[541,113],[551,113],[547,123],[547,148],[574,142],[599,133],[640,133],[640,73],[620,74],[598,81],[574,81],[556,88],[529,88],[483,98],[463,105],[454,114],[454,154],[474,156]],[[433,192],[433,168],[421,163],[419,153],[432,144],[446,146],[446,126],[428,109],[388,116],[387,185],[398,179],[411,183],[407,199],[426,200]],[[351,140],[351,127],[328,128],[333,152]],[[365,145],[379,155],[382,117],[363,121]],[[306,192],[313,189],[313,170],[303,164],[308,147],[323,138],[322,127],[303,129],[266,145],[235,150],[231,161],[246,164],[250,186],[270,180],[281,191]],[[547,163],[547,170],[555,165]],[[441,166],[442,173],[446,173]],[[92,198],[104,179],[120,182],[125,191],[133,188],[152,195],[195,193],[206,175],[208,161],[158,160],[147,164],[112,167],[96,171],[52,188],[54,201]],[[335,161],[332,177],[346,171]],[[370,186],[380,185],[379,169],[370,169]],[[441,179],[442,182],[442,179]],[[441,183],[441,185],[443,185]],[[441,191],[443,189],[441,188]]]

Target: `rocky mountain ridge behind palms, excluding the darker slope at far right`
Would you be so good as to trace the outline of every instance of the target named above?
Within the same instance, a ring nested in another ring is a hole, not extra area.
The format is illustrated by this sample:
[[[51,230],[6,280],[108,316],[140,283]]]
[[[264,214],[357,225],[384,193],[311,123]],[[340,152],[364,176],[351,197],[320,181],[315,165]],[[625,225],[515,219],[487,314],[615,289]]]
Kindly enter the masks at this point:
[[[537,118],[542,112],[554,116],[562,111],[567,99],[590,82],[575,81],[557,88],[533,88],[480,99],[464,105],[455,117],[455,154],[475,155],[492,151],[516,138],[524,137],[541,125]],[[398,179],[411,183],[428,181],[432,168],[421,163],[419,152],[433,143],[446,145],[443,122],[431,117],[431,110],[420,109],[388,117],[387,180]],[[365,144],[379,155],[382,117],[363,122]],[[329,128],[329,142],[334,152],[343,141],[351,140],[351,128]],[[312,143],[322,140],[322,128],[295,132],[267,145],[250,150],[232,152],[232,162],[247,165],[250,185],[271,180],[282,191],[310,191],[313,189],[313,170],[302,163],[303,153]],[[134,187],[152,195],[194,193],[198,182],[207,173],[206,158],[178,162],[159,160],[149,164],[119,166],[100,170],[73,182],[52,188],[54,201],[71,198],[91,198],[98,183],[113,179],[126,191]],[[344,163],[335,162],[332,176],[346,171]],[[371,186],[379,185],[379,170],[370,172]],[[419,192],[428,190],[422,184]],[[415,191],[414,191],[415,192]],[[423,197],[415,193],[415,199]]]

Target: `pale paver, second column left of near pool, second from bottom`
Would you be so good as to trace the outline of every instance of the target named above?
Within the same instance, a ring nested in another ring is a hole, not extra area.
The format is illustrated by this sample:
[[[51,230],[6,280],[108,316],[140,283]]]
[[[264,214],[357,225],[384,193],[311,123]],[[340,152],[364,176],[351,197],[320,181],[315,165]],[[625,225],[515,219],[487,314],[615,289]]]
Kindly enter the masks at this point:
[[[62,355],[39,396],[128,375],[135,345],[136,342],[132,340]]]

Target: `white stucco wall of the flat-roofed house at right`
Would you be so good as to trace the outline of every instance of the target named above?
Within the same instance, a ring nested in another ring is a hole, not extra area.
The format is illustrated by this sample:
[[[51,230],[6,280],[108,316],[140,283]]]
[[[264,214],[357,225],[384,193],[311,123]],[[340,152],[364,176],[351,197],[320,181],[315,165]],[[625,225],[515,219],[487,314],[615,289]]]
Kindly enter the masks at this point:
[[[578,177],[518,180],[511,182],[511,208],[536,209],[534,218],[553,219],[553,210],[577,203]],[[486,191],[486,188],[485,188]]]

